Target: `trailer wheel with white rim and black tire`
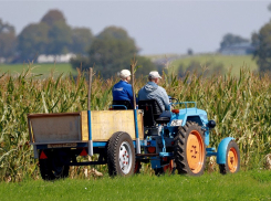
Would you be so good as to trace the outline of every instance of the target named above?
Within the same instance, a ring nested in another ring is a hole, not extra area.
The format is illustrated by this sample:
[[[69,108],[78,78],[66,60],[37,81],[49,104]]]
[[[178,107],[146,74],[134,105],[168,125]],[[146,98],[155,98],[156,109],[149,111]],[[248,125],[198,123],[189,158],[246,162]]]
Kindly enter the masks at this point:
[[[115,133],[107,147],[110,176],[131,176],[135,170],[135,148],[127,133]]]

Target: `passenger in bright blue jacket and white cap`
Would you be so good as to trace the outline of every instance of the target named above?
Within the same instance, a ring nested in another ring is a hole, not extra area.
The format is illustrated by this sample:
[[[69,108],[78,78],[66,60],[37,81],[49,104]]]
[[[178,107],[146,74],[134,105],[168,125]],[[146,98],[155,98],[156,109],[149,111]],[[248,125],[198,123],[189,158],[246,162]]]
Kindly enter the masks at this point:
[[[122,70],[118,73],[121,81],[112,88],[113,102],[114,100],[129,100],[131,107],[133,105],[133,91],[132,85],[128,84],[131,81],[131,72],[128,70]]]

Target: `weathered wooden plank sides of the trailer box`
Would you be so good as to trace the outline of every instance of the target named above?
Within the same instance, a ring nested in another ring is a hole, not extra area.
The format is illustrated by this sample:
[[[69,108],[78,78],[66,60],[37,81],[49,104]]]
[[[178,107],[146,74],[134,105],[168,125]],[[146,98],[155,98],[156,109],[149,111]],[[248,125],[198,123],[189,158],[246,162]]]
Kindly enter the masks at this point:
[[[63,114],[33,114],[29,117],[31,142],[72,142],[88,140],[87,110]],[[138,110],[139,138],[144,138],[143,114]],[[133,110],[92,110],[93,141],[107,141],[116,131],[125,131],[135,140]]]

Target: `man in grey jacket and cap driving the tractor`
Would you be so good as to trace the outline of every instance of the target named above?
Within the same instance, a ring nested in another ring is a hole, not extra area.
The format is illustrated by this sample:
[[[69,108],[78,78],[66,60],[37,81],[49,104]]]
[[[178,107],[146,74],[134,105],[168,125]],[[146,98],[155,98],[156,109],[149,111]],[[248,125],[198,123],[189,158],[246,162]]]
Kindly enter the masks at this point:
[[[163,110],[170,110],[169,98],[165,88],[158,86],[160,75],[157,71],[148,74],[148,83],[138,92],[138,100],[156,99]]]

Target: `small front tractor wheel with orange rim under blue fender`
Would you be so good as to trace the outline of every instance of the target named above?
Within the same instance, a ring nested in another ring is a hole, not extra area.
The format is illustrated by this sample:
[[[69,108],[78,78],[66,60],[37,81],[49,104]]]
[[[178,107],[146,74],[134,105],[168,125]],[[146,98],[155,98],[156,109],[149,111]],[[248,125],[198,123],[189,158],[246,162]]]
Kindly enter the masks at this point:
[[[240,150],[234,140],[231,140],[227,147],[226,163],[219,165],[220,173],[236,173],[240,169]]]

